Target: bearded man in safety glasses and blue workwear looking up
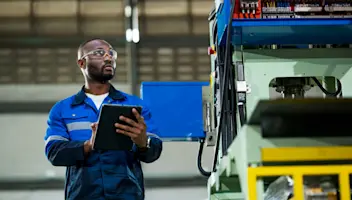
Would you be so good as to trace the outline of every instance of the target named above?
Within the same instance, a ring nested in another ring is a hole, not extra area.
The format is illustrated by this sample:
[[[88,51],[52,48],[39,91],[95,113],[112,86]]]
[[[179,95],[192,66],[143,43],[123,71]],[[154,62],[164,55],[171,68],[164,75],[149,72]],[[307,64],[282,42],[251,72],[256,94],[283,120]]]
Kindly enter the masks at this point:
[[[117,53],[101,39],[83,43],[78,49],[78,66],[85,85],[76,95],[58,101],[51,109],[45,135],[45,153],[54,166],[66,166],[65,199],[143,200],[141,163],[160,157],[162,141],[145,103],[136,96],[116,90]],[[134,110],[138,123],[120,117],[130,126],[115,124],[116,134],[131,137],[131,151],[97,151],[93,141],[103,103],[141,105]]]

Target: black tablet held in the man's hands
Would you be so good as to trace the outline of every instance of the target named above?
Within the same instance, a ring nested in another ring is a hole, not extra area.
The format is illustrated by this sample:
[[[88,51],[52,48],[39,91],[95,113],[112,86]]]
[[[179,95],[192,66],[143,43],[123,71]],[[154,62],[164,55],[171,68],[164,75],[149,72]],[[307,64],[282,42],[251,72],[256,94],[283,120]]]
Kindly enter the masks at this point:
[[[142,113],[140,106],[125,106],[104,104],[100,110],[97,133],[94,140],[95,150],[132,150],[133,142],[130,137],[116,132],[115,123],[128,125],[119,117],[125,116],[137,122],[132,109]]]

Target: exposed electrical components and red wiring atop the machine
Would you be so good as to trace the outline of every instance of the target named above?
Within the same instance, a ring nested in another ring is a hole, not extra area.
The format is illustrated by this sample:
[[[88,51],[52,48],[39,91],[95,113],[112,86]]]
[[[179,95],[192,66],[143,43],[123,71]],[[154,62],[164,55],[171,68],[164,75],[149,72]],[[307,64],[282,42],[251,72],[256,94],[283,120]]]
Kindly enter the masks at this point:
[[[351,0],[236,0],[236,19],[352,18]]]

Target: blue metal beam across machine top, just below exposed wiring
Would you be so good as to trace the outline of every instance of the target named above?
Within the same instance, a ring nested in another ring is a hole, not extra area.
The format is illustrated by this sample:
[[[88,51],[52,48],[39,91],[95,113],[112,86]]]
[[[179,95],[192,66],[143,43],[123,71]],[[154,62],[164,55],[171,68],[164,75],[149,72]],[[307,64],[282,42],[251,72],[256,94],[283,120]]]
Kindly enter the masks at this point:
[[[218,10],[218,42],[225,44],[231,0]],[[234,19],[234,45],[351,44],[351,18]]]

